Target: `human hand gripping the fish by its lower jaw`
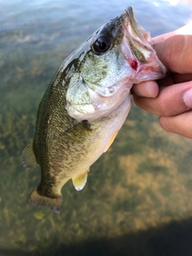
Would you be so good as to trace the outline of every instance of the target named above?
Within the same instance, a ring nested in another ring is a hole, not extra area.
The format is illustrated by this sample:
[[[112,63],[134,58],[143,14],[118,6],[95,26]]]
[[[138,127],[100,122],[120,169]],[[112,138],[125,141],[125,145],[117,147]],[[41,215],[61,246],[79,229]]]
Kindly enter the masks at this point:
[[[133,86],[137,106],[159,115],[166,131],[192,138],[192,24],[154,38],[158,58],[170,74]]]

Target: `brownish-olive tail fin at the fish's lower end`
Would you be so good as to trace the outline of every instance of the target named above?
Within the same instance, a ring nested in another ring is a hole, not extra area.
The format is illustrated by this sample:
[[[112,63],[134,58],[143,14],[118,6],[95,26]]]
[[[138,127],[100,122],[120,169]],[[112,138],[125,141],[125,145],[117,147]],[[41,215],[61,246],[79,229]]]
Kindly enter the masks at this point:
[[[58,195],[58,198],[48,198],[41,194],[38,194],[37,188],[30,194],[30,204],[39,207],[47,207],[56,213],[62,209],[62,194]]]

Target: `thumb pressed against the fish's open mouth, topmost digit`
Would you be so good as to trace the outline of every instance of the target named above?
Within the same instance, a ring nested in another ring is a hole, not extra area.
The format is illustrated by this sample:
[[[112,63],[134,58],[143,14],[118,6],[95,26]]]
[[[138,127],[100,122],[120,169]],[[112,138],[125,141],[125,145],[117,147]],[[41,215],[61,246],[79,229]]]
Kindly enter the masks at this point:
[[[155,42],[158,58],[171,72],[192,73],[192,35],[177,34],[164,41]]]

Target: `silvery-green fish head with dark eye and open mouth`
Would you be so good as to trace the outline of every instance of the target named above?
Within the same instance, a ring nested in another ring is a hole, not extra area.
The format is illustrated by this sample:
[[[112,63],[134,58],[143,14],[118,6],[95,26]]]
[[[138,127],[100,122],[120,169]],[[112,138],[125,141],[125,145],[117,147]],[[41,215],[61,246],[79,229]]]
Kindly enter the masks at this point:
[[[134,83],[163,78],[166,67],[152,43],[131,6],[92,34],[68,59],[70,117],[93,121],[107,116],[130,98]]]

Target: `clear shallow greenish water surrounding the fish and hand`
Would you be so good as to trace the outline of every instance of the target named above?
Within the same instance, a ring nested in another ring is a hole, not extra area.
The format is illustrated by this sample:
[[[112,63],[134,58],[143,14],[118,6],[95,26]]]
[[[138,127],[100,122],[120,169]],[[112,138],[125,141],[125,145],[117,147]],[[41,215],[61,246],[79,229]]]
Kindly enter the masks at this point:
[[[174,4],[176,4],[174,6]],[[190,2],[0,1],[0,255],[192,254],[191,141],[133,106],[86,187],[62,189],[60,214],[28,203],[39,169],[24,170],[38,103],[64,58],[134,6],[152,36],[191,19]]]

